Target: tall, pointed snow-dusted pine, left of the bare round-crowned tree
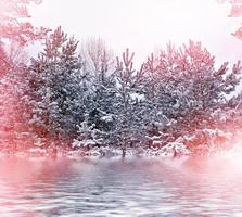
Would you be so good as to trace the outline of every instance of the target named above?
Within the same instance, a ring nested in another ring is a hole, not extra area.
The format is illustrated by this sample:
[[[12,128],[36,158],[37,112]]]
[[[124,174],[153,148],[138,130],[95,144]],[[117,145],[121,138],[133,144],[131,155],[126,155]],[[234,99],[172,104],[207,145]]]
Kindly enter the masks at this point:
[[[39,137],[67,142],[82,118],[85,104],[76,103],[86,91],[82,64],[75,53],[77,43],[59,27],[50,34],[43,52],[31,61],[26,102],[33,111],[29,123]]]

